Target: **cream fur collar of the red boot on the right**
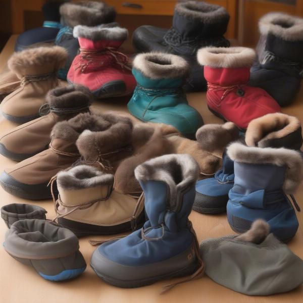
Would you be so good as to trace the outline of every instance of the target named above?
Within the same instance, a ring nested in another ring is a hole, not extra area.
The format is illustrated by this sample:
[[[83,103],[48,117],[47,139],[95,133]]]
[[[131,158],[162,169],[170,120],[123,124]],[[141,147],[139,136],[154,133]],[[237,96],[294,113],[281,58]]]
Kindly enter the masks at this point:
[[[200,65],[212,68],[250,67],[254,62],[256,52],[247,47],[205,47],[200,48],[197,60]]]

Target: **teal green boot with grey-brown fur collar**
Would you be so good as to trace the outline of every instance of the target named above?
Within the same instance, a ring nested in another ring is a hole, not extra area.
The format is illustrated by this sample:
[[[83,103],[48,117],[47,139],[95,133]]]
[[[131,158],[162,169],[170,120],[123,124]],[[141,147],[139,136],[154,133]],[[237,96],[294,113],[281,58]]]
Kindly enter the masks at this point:
[[[203,119],[188,105],[182,90],[188,69],[187,62],[179,56],[137,55],[132,70],[137,86],[127,105],[130,113],[142,121],[172,125],[193,138]]]

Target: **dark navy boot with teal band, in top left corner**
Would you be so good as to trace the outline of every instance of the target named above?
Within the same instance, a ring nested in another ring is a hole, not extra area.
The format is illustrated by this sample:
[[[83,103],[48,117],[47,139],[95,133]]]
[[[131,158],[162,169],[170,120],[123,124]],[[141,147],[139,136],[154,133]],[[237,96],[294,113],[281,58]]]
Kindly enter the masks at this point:
[[[41,46],[41,44],[54,43],[62,27],[59,8],[64,2],[64,0],[46,0],[42,6],[44,17],[42,27],[29,29],[19,35],[15,44],[15,52],[23,51],[28,47]]]

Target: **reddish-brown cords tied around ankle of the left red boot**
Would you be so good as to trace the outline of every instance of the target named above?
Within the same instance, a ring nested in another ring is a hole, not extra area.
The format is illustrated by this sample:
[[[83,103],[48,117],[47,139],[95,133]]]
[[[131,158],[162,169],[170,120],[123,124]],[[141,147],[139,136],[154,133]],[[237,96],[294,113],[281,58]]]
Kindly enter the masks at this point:
[[[128,66],[129,58],[121,53],[116,51],[115,47],[106,47],[103,49],[84,49],[80,48],[80,60],[78,66],[75,68],[75,70],[80,69],[81,73],[84,73],[86,71],[86,68],[90,64],[94,64],[94,67],[104,67],[107,65],[107,62],[105,60],[98,60],[98,56],[100,55],[107,55],[110,56],[111,59],[115,61],[116,64],[118,64],[122,69],[127,69],[131,71],[131,68]],[[87,62],[83,62],[87,61]]]

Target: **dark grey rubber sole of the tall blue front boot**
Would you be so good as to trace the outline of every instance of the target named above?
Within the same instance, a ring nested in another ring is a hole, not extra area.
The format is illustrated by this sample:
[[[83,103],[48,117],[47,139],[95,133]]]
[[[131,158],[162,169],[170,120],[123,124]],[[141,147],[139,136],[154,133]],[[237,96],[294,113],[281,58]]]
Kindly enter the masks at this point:
[[[192,264],[186,268],[180,269],[178,271],[175,271],[173,273],[169,273],[166,275],[152,277],[152,278],[146,278],[146,279],[140,279],[140,280],[131,280],[131,281],[113,279],[111,277],[98,273],[91,264],[90,264],[90,267],[93,269],[93,271],[96,273],[96,275],[100,279],[104,280],[108,284],[111,284],[111,285],[114,285],[117,287],[122,287],[122,288],[136,288],[136,287],[142,287],[142,286],[154,284],[160,280],[180,278],[180,277],[191,275],[196,271],[196,269],[198,268],[198,265]]]

